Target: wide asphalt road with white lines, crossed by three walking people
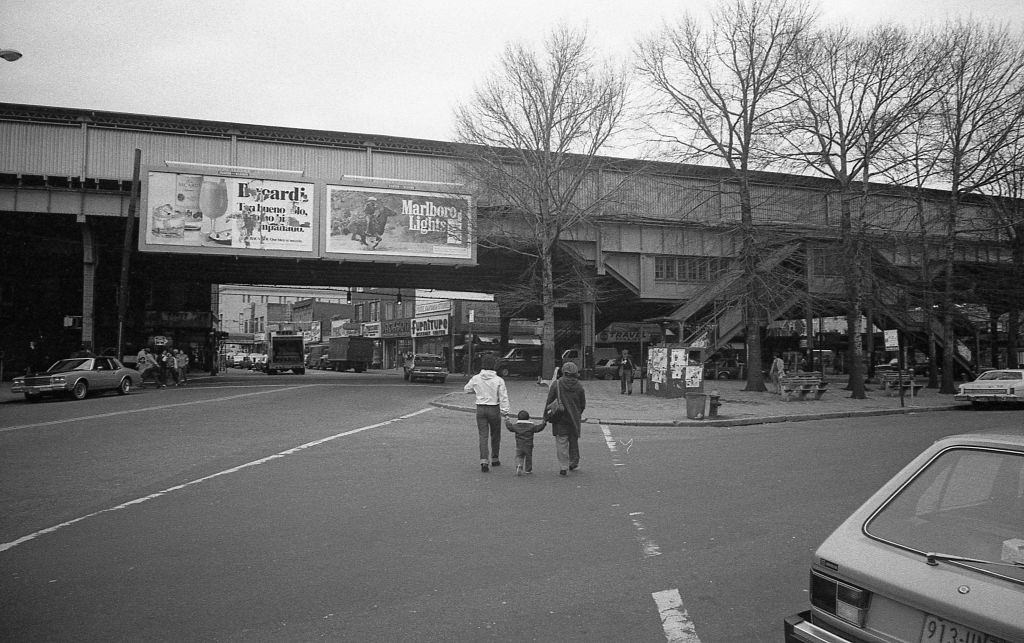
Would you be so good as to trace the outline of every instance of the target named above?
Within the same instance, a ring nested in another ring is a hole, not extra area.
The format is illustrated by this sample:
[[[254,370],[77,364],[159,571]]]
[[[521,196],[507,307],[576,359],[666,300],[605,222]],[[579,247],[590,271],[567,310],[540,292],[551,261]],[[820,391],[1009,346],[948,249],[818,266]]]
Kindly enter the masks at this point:
[[[0,639],[779,641],[810,555],[934,439],[1020,412],[585,426],[482,474],[461,386],[240,374],[0,405]]]

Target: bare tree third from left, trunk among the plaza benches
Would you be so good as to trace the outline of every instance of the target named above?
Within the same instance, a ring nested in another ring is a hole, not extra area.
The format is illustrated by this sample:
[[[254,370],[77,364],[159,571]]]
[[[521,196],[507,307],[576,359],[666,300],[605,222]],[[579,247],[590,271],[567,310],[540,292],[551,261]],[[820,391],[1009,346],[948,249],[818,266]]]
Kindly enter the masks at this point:
[[[802,42],[788,85],[786,157],[829,178],[839,196],[850,389],[857,399],[865,397],[860,322],[870,270],[869,180],[885,171],[878,167],[884,151],[934,91],[934,75],[933,53],[905,31],[883,26],[857,35],[838,27]]]

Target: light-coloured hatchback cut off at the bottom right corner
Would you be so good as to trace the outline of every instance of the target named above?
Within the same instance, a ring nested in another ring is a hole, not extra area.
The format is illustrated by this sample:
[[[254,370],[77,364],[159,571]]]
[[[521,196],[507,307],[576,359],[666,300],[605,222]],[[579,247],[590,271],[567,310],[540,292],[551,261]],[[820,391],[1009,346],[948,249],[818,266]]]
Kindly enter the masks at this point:
[[[1024,641],[1024,435],[943,438],[817,549],[786,643]]]

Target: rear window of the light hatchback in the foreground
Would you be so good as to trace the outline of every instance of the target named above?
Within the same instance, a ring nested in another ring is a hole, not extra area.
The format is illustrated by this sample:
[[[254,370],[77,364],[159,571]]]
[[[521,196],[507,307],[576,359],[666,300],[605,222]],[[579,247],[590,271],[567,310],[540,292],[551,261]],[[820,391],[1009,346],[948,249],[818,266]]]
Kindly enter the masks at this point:
[[[939,454],[864,524],[867,535],[1024,583],[1024,455],[994,448]]]

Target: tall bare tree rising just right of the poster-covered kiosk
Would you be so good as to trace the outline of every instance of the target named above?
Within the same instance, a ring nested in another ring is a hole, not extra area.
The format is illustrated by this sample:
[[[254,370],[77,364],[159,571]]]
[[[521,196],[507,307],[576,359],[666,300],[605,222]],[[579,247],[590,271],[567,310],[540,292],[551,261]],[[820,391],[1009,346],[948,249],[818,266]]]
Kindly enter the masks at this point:
[[[638,69],[653,90],[648,126],[679,161],[724,164],[738,185],[741,266],[748,292],[746,390],[765,390],[755,278],[762,251],[754,228],[752,173],[767,165],[766,135],[785,104],[783,71],[814,20],[803,0],[731,0],[712,11],[710,29],[692,15],[642,41]]]

